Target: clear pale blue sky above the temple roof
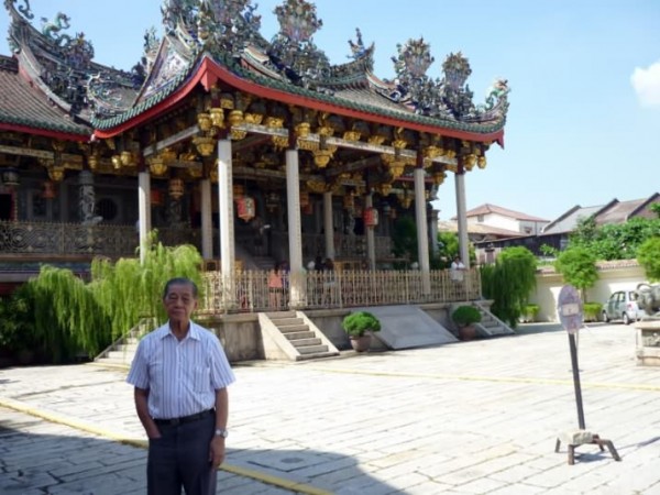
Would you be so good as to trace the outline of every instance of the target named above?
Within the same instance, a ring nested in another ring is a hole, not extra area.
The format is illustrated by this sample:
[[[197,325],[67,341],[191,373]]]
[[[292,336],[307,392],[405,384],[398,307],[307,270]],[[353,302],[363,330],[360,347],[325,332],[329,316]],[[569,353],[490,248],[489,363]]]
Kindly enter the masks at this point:
[[[254,4],[253,0],[253,4]],[[277,31],[282,0],[261,0],[262,34]],[[62,11],[85,32],[96,62],[129,69],[147,28],[161,29],[160,0],[31,0],[36,26]],[[482,102],[495,77],[508,79],[505,148],[466,175],[468,208],[485,202],[552,220],[575,205],[604,205],[660,191],[660,2],[656,0],[318,0],[317,46],[346,62],[348,40],[375,43],[375,74],[409,38],[430,43],[430,76],[452,52],[470,61]],[[94,7],[92,7],[94,6]],[[0,16],[7,33],[8,15]],[[9,54],[0,36],[0,53]],[[453,175],[435,202],[455,215]]]

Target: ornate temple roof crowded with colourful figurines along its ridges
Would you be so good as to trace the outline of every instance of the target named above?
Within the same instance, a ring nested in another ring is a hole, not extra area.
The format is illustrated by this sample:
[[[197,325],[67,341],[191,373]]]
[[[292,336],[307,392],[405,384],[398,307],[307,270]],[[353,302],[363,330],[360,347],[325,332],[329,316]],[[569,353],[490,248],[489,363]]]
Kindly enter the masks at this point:
[[[486,101],[474,103],[468,59],[450,54],[442,77],[433,79],[426,74],[433,57],[424,38],[399,45],[393,57],[396,78],[380,79],[372,73],[375,47],[364,45],[359,30],[349,42],[352,61],[332,65],[314,44],[322,21],[305,0],[285,0],[275,9],[280,30],[270,42],[258,32],[261,18],[251,0],[166,0],[163,37],[146,32],[144,56],[129,73],[92,62],[91,43],[82,33],[66,33],[70,20],[65,14],[38,31],[25,0],[4,3],[22,70],[51,101],[96,129],[130,125],[174,95],[190,91],[187,82],[200,81],[200,72],[210,68],[224,87],[242,86],[275,100],[286,95],[289,105],[331,106],[338,114],[365,121],[502,143],[506,80],[496,80]]]

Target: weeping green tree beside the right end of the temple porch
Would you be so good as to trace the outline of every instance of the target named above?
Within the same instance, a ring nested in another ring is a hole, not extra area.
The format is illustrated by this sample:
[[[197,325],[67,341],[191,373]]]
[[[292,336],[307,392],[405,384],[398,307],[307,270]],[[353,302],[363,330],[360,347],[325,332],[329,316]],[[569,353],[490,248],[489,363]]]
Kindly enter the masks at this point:
[[[492,311],[509,323],[518,324],[518,318],[536,287],[536,257],[526,248],[507,248],[499,253],[495,264],[481,270],[484,297],[493,299]]]

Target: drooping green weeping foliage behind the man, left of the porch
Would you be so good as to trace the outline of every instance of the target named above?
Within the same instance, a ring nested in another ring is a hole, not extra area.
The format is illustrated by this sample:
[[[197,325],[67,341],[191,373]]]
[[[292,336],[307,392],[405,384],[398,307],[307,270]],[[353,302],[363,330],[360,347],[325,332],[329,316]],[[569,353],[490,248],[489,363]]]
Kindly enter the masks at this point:
[[[21,292],[32,307],[31,334],[24,341],[37,342],[53,362],[79,352],[96,355],[141,317],[164,322],[165,283],[187,277],[201,287],[201,262],[191,245],[165,248],[151,242],[143,265],[136,258],[92,262],[87,284],[69,270],[45,265]]]

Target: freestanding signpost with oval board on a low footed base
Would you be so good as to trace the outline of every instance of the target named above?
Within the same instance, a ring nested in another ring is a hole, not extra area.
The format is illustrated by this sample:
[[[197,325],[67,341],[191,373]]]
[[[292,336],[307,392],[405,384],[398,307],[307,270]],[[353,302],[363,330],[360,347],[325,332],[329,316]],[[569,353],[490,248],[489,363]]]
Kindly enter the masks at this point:
[[[564,285],[559,293],[557,301],[557,312],[559,321],[569,333],[569,346],[571,349],[571,367],[573,369],[573,386],[575,388],[575,403],[578,405],[578,431],[568,431],[561,433],[557,438],[554,451],[559,452],[559,446],[563,441],[569,448],[569,464],[575,463],[575,447],[584,443],[593,443],[604,451],[607,447],[615,461],[620,461],[622,458],[617,453],[610,440],[605,440],[596,433],[586,430],[584,422],[584,408],[582,406],[582,388],[580,386],[580,367],[578,366],[578,345],[575,344],[575,336],[582,328],[584,322],[584,314],[582,299],[580,294],[572,285]]]

